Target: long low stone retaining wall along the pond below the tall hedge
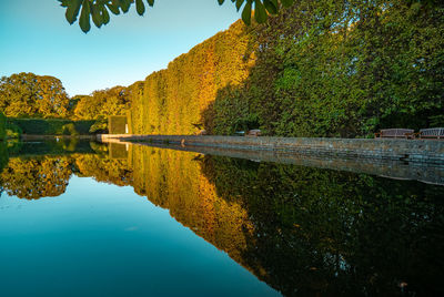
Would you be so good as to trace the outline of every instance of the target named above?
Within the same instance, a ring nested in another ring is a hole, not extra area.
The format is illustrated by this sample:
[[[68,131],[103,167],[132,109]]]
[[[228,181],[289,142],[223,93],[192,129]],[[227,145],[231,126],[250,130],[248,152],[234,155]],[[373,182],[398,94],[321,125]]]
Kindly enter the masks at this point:
[[[170,143],[184,146],[209,146],[234,150],[274,151],[309,155],[379,158],[444,164],[444,141],[435,140],[370,140],[306,139],[194,135],[98,135],[102,142],[127,141]]]

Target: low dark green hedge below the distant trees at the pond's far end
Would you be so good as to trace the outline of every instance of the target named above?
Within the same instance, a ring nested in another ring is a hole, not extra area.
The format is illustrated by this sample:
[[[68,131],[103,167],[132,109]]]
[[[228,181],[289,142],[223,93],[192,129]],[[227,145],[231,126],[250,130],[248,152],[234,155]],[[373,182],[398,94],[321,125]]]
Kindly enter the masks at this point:
[[[18,125],[23,134],[31,135],[88,135],[94,121],[43,120],[43,119],[9,119]]]

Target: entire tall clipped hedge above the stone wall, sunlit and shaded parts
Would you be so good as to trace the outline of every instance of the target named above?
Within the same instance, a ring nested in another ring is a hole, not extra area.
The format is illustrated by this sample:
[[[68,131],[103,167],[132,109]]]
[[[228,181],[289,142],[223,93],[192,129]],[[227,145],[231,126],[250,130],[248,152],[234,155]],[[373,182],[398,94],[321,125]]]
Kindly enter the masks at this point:
[[[130,86],[130,132],[363,137],[444,125],[444,4],[301,0]]]

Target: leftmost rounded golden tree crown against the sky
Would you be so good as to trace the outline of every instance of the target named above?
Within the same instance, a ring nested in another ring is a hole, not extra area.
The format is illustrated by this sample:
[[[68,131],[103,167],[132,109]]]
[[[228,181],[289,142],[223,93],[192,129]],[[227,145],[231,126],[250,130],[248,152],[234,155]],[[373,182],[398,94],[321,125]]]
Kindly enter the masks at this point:
[[[53,76],[18,73],[0,80],[0,111],[7,116],[65,117],[69,98]]]

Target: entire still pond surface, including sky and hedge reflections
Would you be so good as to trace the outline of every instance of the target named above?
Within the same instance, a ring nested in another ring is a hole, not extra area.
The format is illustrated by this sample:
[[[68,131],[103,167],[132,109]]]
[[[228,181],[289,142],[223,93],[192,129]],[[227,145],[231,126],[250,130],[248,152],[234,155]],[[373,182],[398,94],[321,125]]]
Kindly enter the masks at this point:
[[[0,296],[443,294],[444,186],[141,145],[0,153]]]

